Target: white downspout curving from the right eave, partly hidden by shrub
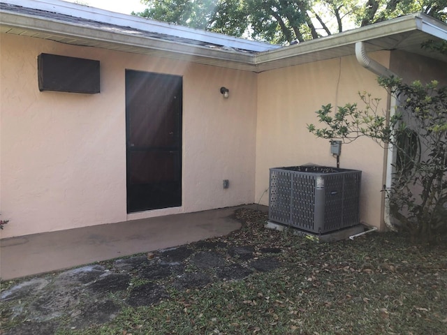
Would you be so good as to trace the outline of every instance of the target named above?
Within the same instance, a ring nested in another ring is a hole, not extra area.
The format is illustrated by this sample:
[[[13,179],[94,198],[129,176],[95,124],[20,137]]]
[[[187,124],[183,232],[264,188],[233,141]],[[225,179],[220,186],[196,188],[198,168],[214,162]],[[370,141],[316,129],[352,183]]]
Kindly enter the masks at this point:
[[[375,73],[376,75],[379,75],[381,77],[397,77],[395,73],[393,73],[392,70],[389,68],[386,68],[382,64],[379,64],[377,61],[374,61],[374,59],[370,59],[366,53],[365,50],[365,43],[363,42],[356,42],[356,58],[358,63],[363,66],[364,68],[367,68],[367,70],[370,70],[372,73]],[[394,96],[391,96],[390,100],[390,117],[393,117],[395,114],[395,107],[397,105],[397,99]],[[392,183],[392,177],[393,177],[393,161],[395,159],[394,154],[394,148],[393,145],[388,144],[388,153],[386,157],[386,176],[385,176],[385,188],[386,190],[389,190]],[[387,197],[385,197],[385,212],[383,214],[383,221],[385,222],[385,225],[388,229],[395,231],[393,224],[391,223],[391,216],[390,216],[390,201]]]

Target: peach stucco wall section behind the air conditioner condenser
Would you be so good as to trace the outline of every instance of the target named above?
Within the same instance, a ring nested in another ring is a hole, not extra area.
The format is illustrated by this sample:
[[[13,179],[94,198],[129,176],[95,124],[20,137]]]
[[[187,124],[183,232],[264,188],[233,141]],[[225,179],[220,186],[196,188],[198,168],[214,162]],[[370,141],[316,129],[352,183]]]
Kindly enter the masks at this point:
[[[389,52],[371,57],[388,66]],[[358,65],[355,57],[258,75],[256,201],[268,204],[269,168],[306,163],[336,166],[328,140],[316,138],[306,125],[318,127],[315,111],[321,105],[358,102],[358,91],[364,90],[382,98],[380,111],[386,109],[386,91],[376,83],[373,73]],[[362,170],[360,219],[379,228],[383,225],[383,164],[384,150],[372,140],[360,138],[342,145],[340,168]]]

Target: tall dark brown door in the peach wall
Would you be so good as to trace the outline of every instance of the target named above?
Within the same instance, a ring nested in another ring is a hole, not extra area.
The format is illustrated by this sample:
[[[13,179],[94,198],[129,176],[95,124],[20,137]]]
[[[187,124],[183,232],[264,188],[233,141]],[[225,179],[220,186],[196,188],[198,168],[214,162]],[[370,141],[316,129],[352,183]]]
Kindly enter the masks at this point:
[[[127,212],[182,205],[182,77],[126,70]]]

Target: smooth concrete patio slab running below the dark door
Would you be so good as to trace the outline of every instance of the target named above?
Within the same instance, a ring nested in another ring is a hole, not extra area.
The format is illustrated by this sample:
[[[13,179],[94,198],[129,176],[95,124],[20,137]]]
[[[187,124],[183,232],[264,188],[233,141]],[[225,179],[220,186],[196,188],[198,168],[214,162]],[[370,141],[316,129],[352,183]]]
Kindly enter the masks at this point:
[[[222,236],[240,228],[231,217],[237,208],[1,239],[0,277],[7,280],[41,274]]]

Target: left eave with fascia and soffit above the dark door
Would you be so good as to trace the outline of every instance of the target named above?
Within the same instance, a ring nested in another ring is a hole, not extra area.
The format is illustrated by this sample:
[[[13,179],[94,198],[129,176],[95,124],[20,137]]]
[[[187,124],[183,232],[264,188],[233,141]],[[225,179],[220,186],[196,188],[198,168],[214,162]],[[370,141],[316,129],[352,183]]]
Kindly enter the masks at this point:
[[[59,43],[252,70],[254,52],[0,3],[0,32]]]

